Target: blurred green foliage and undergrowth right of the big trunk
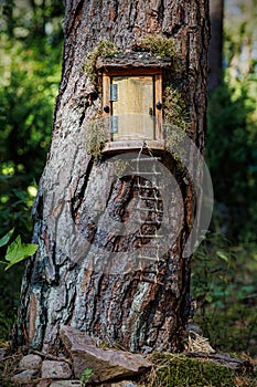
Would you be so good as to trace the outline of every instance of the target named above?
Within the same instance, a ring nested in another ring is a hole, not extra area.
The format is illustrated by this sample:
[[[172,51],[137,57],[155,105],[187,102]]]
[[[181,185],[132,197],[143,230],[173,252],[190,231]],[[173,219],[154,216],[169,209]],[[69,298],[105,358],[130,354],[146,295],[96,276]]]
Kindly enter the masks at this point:
[[[208,95],[211,230],[193,257],[194,323],[219,351],[257,358],[257,1],[226,0],[223,81]]]

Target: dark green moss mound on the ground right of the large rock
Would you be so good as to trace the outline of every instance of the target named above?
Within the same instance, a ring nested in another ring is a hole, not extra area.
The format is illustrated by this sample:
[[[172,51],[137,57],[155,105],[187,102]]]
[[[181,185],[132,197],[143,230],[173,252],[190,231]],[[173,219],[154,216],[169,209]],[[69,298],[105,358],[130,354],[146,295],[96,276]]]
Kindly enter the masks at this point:
[[[233,387],[238,379],[236,372],[224,365],[183,354],[153,353],[151,360],[154,367],[144,384],[149,387]],[[244,386],[255,386],[256,380],[244,380]]]

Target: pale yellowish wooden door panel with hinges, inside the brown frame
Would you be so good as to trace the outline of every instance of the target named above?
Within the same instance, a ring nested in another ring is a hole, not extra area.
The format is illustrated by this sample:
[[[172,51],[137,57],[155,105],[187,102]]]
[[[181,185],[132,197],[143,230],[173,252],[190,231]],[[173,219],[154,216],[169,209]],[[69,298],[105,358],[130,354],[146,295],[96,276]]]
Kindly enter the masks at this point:
[[[154,139],[153,76],[113,76],[113,140]]]

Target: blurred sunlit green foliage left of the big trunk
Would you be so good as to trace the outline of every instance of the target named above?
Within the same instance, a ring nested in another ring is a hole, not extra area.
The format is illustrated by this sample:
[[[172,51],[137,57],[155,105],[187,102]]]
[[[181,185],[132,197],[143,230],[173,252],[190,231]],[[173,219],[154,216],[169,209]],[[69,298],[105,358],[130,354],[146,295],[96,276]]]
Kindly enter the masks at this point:
[[[0,2],[0,237],[30,242],[31,208],[51,142],[63,48],[60,1]],[[0,249],[0,257],[7,248]],[[24,264],[0,264],[0,339],[15,318]]]

